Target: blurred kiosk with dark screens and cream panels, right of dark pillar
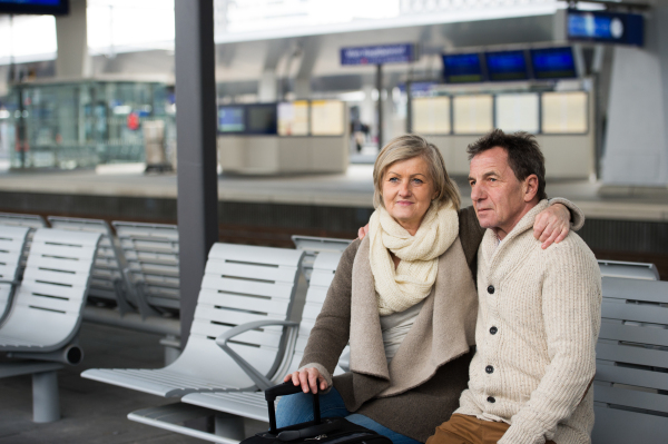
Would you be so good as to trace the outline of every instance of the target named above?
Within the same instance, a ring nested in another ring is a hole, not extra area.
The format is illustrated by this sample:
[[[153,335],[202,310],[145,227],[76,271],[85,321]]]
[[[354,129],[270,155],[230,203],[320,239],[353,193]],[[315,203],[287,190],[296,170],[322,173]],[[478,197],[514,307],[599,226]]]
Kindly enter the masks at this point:
[[[337,100],[235,103],[218,108],[223,172],[281,175],[343,172],[350,125]]]

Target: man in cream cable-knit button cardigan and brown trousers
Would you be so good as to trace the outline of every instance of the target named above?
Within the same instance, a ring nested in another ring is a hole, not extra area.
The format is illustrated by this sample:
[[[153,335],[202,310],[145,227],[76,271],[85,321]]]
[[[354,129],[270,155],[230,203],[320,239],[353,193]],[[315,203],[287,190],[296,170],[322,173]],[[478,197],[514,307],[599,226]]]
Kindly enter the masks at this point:
[[[601,278],[574,233],[542,249],[544,159],[524,132],[468,148],[471,199],[489,228],[478,250],[477,352],[460,408],[428,444],[589,443]]]

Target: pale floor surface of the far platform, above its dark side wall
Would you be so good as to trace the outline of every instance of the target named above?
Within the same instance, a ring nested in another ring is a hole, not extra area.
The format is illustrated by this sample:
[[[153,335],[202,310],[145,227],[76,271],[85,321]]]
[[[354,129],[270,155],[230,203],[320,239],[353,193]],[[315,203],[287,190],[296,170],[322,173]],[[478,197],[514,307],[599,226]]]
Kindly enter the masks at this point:
[[[81,171],[2,171],[0,193],[45,193],[175,198],[175,174],[144,175],[136,166]],[[345,174],[218,177],[222,201],[372,207],[373,166],[351,165]],[[470,205],[465,177],[456,177],[463,204]],[[573,200],[587,217],[668,221],[668,188],[609,187],[588,180],[548,180],[549,196]]]

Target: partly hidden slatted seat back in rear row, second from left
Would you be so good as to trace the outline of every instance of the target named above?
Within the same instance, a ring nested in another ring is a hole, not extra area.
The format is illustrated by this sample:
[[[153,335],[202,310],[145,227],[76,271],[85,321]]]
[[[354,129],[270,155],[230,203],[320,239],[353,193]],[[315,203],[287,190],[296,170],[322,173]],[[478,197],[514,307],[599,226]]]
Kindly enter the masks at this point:
[[[114,302],[118,305],[121,314],[131,310],[124,292],[121,275],[122,258],[119,257],[118,250],[114,245],[114,234],[109,224],[101,219],[72,217],[49,216],[47,219],[53,228],[100,234],[101,238],[90,277],[88,297]]]

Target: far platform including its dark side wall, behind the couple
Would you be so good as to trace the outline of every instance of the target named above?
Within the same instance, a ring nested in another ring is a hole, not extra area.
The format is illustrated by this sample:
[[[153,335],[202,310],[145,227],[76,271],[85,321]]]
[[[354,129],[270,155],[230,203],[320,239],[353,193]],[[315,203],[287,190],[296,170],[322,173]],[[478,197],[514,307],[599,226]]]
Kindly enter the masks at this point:
[[[354,238],[373,213],[372,174],[354,164],[333,175],[219,175],[219,238],[281,247],[295,234]],[[471,205],[466,178],[454,179]],[[547,193],[584,211],[579,234],[599,258],[651,262],[668,278],[668,188],[553,179]],[[176,224],[176,174],[145,175],[140,165],[0,172],[0,211]]]

